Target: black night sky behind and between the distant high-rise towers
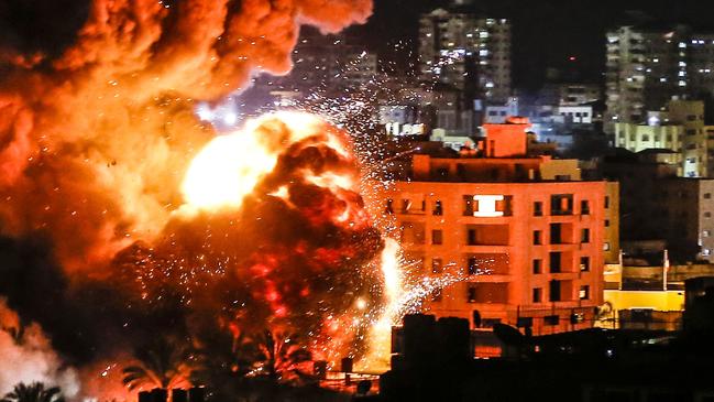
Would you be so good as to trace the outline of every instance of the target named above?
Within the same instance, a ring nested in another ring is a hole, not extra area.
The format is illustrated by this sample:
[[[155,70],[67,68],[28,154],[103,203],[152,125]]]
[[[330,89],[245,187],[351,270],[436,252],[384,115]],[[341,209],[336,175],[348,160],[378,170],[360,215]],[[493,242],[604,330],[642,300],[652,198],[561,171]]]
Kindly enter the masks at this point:
[[[375,0],[375,13],[364,34],[382,55],[394,55],[393,43],[416,36],[418,17],[443,0]],[[631,21],[641,11],[656,23],[686,23],[714,31],[711,0],[474,0],[473,11],[508,18],[513,23],[513,74],[517,87],[537,88],[548,67],[568,69],[585,82],[600,82],[605,63],[605,31]],[[570,56],[576,62],[569,62]]]

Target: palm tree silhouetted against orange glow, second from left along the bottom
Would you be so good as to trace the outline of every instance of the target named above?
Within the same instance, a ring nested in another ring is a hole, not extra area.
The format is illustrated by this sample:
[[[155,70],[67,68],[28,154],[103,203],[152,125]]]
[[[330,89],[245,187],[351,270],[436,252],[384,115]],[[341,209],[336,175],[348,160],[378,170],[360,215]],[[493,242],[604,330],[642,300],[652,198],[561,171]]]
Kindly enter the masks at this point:
[[[138,349],[134,357],[139,363],[122,370],[122,382],[129,390],[142,385],[163,389],[188,385],[195,357],[186,344],[160,337],[149,347]]]

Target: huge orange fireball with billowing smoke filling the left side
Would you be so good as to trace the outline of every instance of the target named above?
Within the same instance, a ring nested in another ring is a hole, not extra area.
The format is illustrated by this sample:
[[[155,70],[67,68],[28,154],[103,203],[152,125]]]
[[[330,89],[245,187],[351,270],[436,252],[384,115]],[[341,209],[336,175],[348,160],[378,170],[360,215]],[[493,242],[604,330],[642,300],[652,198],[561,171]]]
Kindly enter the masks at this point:
[[[299,24],[337,32],[371,11],[94,0],[59,46],[0,39],[0,294],[80,373],[102,368],[87,389],[167,334],[271,327],[316,358],[363,350],[383,241],[349,138],[296,112],[217,137],[195,109],[287,73]]]

